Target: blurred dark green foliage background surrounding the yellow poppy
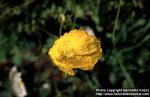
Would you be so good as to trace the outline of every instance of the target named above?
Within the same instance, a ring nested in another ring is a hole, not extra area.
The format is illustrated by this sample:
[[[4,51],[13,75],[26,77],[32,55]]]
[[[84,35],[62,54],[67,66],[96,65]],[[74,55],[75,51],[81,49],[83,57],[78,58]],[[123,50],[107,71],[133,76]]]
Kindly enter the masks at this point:
[[[120,13],[113,33],[117,10]],[[14,97],[8,74],[22,72],[27,97],[95,97],[96,88],[150,88],[148,0],[0,0],[0,97]],[[74,77],[58,70],[48,49],[73,28],[90,27],[103,57]]]

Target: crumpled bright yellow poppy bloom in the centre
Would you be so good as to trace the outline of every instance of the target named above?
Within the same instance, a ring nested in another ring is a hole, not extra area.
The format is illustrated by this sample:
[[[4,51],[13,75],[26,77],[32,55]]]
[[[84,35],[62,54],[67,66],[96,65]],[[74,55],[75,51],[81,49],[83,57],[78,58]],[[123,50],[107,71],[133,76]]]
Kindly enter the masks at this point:
[[[92,70],[102,56],[102,49],[95,36],[74,29],[57,39],[48,54],[60,70],[73,76],[75,68]]]

